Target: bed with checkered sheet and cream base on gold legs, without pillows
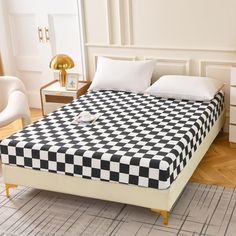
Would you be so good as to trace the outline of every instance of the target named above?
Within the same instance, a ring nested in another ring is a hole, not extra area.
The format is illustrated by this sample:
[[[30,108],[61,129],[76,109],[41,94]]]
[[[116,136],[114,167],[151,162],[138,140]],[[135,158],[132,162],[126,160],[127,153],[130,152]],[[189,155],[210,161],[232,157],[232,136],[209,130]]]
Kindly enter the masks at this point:
[[[73,120],[99,112],[94,124]],[[91,91],[0,143],[9,189],[24,185],[168,212],[224,124],[210,102]]]

